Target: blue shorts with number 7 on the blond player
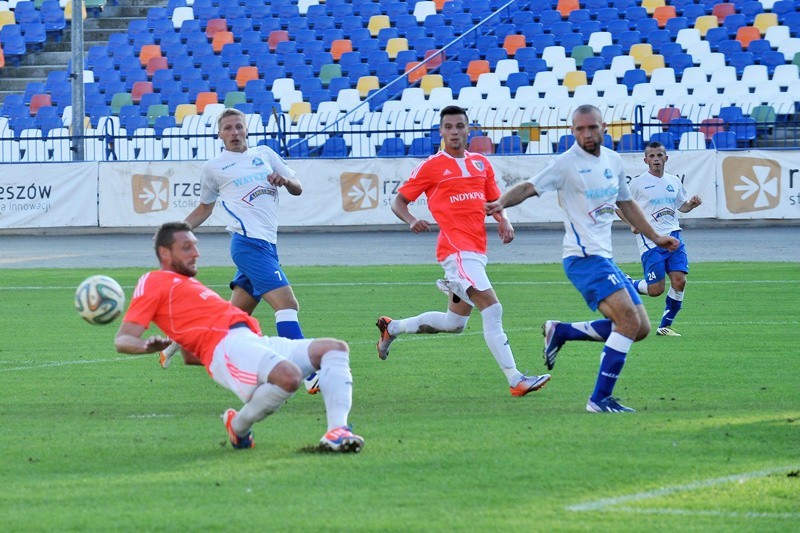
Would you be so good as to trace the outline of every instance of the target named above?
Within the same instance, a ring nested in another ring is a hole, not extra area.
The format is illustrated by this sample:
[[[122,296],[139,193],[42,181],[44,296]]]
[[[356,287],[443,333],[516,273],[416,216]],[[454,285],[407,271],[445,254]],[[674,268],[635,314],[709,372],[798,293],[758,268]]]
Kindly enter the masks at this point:
[[[231,258],[236,264],[231,289],[241,287],[255,300],[260,300],[264,294],[289,285],[278,260],[278,248],[271,242],[234,233]]]

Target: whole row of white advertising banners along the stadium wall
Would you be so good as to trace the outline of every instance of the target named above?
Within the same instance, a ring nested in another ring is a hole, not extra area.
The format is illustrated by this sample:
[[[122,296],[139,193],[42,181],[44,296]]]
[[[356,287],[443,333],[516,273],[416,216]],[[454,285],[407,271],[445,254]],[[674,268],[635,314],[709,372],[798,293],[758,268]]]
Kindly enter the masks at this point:
[[[501,189],[533,176],[555,156],[494,156]],[[646,171],[622,154],[629,179]],[[281,195],[284,228],[400,224],[389,205],[419,159],[292,160],[299,197]],[[202,161],[7,165],[0,176],[0,229],[156,227],[183,219],[199,202]],[[667,171],[703,205],[686,219],[800,219],[800,152],[671,152]],[[429,216],[425,199],[415,212]],[[511,208],[514,223],[561,221],[555,194]],[[223,209],[206,226],[223,227]]]

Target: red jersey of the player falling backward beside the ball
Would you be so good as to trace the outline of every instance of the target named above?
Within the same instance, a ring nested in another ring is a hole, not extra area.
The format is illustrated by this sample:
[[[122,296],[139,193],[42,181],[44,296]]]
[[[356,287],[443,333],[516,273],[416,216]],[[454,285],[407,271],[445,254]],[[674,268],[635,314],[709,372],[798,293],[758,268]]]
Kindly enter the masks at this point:
[[[170,339],[192,351],[206,368],[230,326],[245,322],[261,334],[255,318],[223,300],[195,278],[154,270],[139,278],[125,322],[155,323]]]

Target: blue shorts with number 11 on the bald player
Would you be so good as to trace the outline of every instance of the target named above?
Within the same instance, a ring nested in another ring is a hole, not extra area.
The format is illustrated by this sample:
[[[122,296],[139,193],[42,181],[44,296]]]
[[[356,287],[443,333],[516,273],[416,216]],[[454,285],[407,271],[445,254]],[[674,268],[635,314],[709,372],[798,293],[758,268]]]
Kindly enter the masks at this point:
[[[599,255],[572,256],[565,257],[562,264],[567,277],[592,311],[597,311],[600,302],[620,289],[628,291],[635,305],[642,303],[636,289],[611,259]]]

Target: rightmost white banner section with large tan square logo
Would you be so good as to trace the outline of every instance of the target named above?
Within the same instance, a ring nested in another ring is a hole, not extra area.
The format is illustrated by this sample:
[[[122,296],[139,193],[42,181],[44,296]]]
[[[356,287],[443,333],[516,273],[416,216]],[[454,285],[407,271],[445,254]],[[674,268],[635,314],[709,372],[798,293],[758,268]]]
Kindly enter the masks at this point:
[[[719,152],[717,216],[800,218],[800,152]]]

